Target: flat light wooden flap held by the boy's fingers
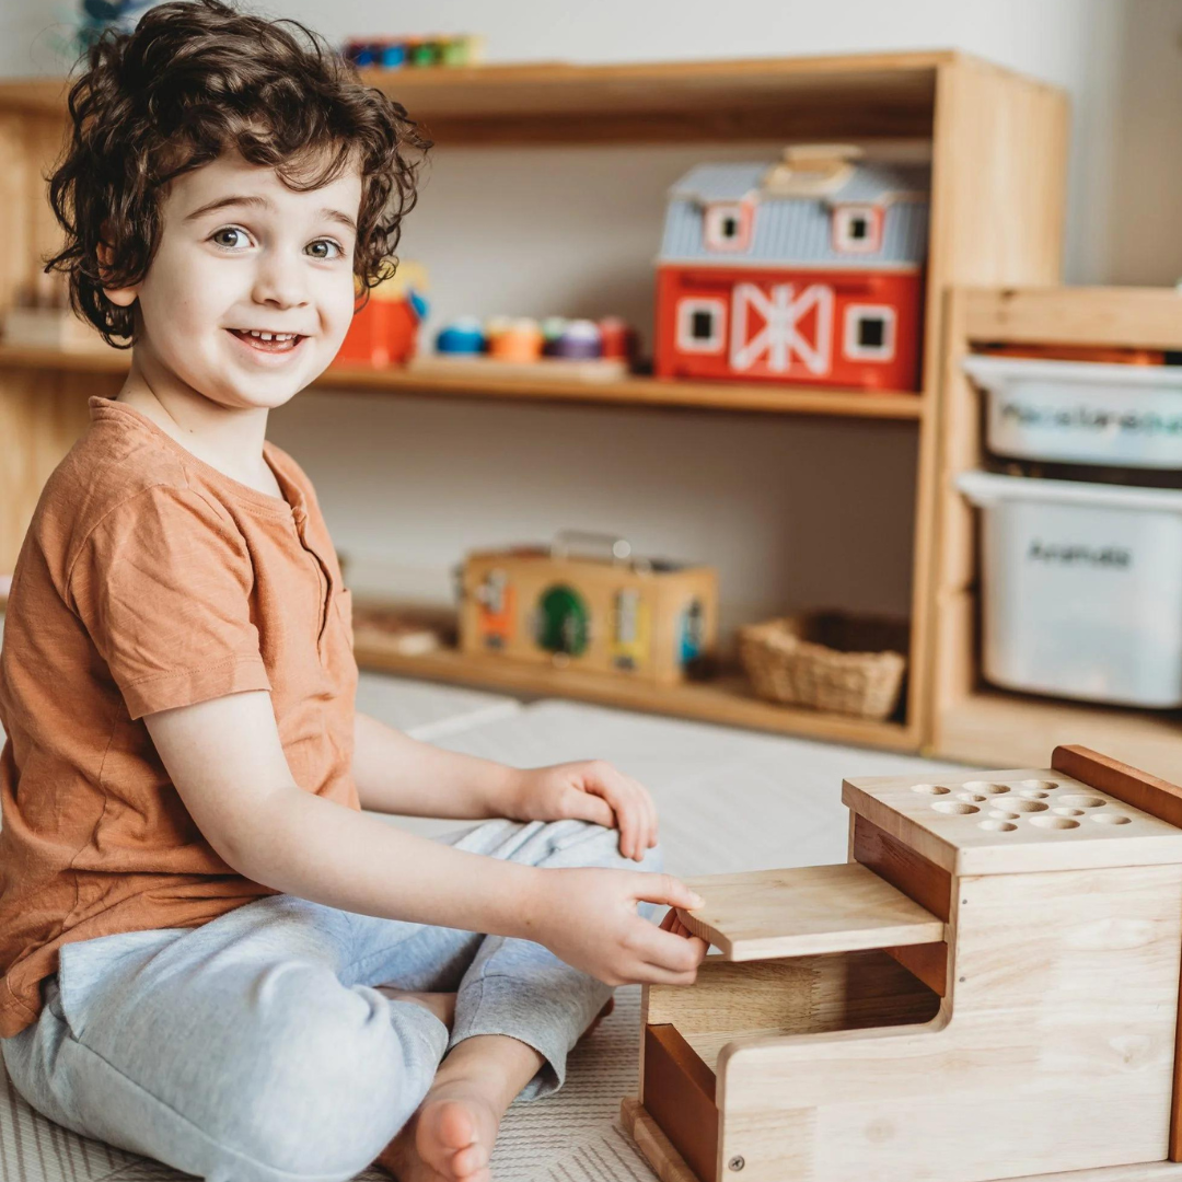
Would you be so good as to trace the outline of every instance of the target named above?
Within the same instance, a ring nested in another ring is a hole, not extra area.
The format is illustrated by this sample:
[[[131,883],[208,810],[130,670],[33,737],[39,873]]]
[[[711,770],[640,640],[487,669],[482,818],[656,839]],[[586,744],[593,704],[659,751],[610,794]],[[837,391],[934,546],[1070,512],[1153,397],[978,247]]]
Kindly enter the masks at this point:
[[[706,901],[686,927],[729,961],[931,944],[943,920],[858,862],[687,881]]]

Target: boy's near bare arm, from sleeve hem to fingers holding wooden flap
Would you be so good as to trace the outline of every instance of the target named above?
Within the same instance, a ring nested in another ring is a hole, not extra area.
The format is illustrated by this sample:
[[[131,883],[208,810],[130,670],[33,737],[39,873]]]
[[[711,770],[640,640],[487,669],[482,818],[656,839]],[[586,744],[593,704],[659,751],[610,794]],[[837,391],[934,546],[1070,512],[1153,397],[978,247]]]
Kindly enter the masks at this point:
[[[248,690],[144,715],[202,834],[230,869],[327,907],[518,936],[609,985],[691,983],[693,942],[642,920],[638,901],[701,905],[665,875],[539,870],[455,850],[296,784],[271,695]]]

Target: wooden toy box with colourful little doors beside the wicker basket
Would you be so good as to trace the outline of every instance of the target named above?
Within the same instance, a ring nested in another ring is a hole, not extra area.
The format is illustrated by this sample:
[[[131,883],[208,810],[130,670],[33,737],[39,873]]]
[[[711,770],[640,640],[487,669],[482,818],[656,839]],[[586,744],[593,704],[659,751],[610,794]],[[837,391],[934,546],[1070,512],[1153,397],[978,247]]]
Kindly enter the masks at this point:
[[[463,564],[460,648],[534,664],[683,681],[717,638],[709,566],[518,547]]]

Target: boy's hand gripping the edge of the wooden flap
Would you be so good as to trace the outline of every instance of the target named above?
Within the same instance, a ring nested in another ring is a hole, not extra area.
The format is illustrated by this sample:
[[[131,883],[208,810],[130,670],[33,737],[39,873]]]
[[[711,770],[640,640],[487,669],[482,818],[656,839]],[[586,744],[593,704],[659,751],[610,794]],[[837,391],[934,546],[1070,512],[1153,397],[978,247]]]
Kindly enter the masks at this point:
[[[669,875],[630,870],[544,870],[532,936],[567,965],[605,985],[693,985],[707,943],[662,930],[636,911],[639,902],[701,907]],[[670,911],[675,915],[675,911]]]

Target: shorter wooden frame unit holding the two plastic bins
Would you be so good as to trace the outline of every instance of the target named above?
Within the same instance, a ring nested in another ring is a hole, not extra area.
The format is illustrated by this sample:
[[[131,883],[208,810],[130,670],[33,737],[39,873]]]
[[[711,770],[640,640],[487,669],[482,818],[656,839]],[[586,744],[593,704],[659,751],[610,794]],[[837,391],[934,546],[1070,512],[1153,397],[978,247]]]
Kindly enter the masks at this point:
[[[982,683],[978,519],[955,481],[985,457],[980,395],[961,370],[974,345],[1182,349],[1182,296],[1156,287],[956,288],[947,307],[930,751],[942,759],[1034,766],[1047,747],[1085,742],[1177,781],[1182,712],[1070,702]]]

